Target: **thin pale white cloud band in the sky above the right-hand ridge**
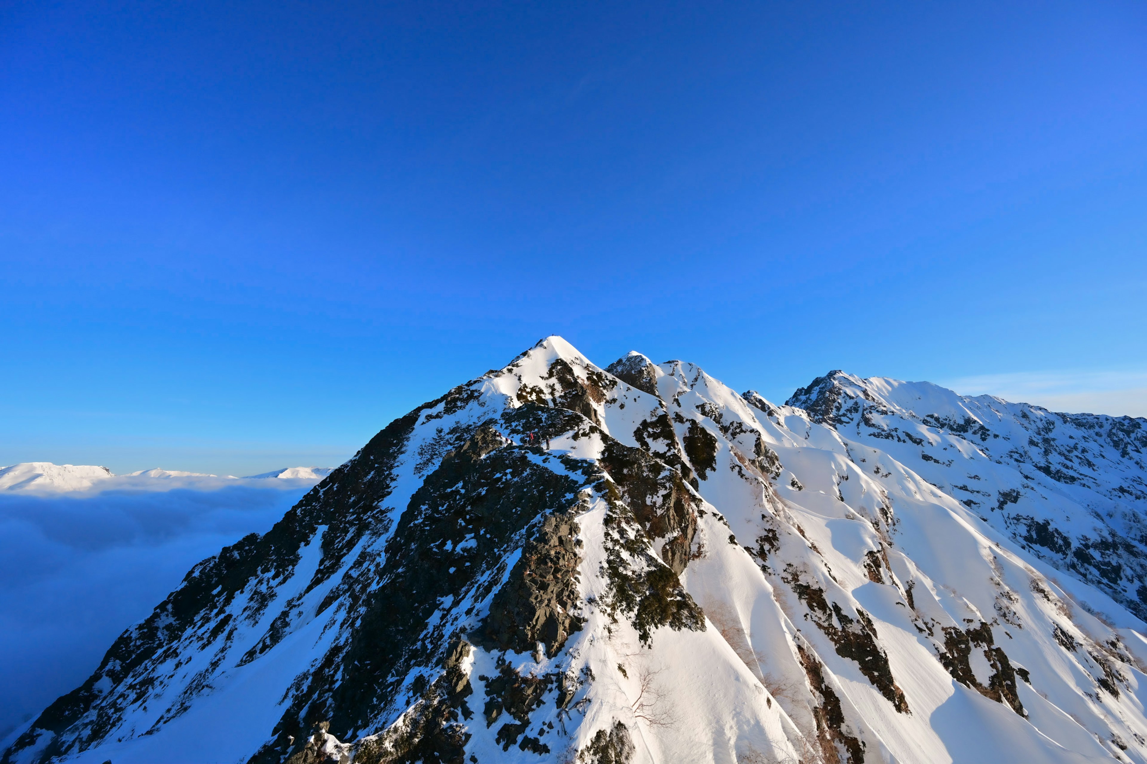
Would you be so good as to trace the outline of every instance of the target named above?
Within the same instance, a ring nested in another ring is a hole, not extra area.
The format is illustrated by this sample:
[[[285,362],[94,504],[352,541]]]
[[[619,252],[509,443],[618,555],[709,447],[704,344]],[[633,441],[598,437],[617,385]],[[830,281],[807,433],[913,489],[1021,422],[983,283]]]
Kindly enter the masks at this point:
[[[1147,417],[1147,371],[1029,371],[937,384],[961,395],[996,395],[1052,411]]]

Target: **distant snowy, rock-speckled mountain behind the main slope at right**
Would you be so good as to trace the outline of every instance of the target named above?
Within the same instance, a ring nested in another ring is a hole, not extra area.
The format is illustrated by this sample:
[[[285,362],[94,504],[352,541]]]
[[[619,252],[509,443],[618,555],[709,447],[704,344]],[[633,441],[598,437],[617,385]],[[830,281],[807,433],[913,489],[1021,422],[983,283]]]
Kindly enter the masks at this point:
[[[840,371],[788,403],[848,442],[881,449],[1028,551],[1147,617],[1147,419],[1053,413]]]

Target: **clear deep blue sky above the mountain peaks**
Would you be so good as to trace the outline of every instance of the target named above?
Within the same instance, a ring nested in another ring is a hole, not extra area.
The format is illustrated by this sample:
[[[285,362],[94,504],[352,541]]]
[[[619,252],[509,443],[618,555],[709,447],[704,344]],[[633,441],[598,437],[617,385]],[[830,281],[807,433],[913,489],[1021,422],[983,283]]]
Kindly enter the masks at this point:
[[[336,464],[549,333],[1147,388],[1141,2],[5,3],[0,72],[0,464]]]

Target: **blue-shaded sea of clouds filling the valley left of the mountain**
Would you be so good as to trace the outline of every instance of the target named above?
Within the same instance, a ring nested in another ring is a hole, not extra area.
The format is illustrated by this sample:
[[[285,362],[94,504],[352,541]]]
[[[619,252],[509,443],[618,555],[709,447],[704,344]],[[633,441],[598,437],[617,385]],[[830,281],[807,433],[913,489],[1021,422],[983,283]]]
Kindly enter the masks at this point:
[[[200,560],[264,533],[313,485],[0,493],[0,740],[87,678]]]

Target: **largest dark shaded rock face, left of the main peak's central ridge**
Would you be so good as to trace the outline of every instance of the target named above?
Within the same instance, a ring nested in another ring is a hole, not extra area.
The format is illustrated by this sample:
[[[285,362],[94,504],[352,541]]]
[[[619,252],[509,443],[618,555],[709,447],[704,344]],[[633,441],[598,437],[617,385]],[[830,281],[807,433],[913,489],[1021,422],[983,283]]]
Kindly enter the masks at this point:
[[[341,739],[361,734],[399,696],[411,667],[430,664],[444,648],[448,635],[419,638],[438,599],[499,565],[516,534],[535,518],[569,506],[578,488],[532,463],[525,449],[501,447],[489,425],[478,427],[414,493],[350,644],[326,656],[283,715],[279,742],[256,761],[280,761],[281,741],[299,738],[309,719],[329,718]]]

